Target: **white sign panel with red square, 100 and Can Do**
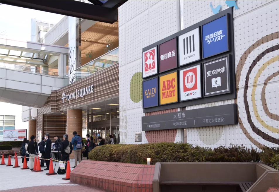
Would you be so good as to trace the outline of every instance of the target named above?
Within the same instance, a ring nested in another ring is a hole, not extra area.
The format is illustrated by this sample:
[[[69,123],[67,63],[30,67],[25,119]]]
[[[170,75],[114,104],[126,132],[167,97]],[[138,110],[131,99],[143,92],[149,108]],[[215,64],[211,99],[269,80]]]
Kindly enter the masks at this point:
[[[201,98],[200,64],[179,71],[180,101]]]

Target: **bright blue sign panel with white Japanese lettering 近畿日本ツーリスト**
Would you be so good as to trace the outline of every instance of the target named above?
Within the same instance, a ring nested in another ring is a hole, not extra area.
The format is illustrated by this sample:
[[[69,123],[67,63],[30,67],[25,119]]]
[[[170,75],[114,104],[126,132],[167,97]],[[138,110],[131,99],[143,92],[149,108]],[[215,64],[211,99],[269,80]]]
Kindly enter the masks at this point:
[[[228,48],[227,15],[202,26],[203,58],[223,53]]]

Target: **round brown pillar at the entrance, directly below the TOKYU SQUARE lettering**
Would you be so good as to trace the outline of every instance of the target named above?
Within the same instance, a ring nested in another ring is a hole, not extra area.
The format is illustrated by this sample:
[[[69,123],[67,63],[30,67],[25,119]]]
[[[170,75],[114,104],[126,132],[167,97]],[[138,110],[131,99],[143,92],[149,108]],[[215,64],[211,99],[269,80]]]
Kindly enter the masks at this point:
[[[67,110],[67,134],[69,141],[73,138],[73,132],[76,131],[82,138],[82,110],[68,109]],[[73,143],[72,143],[73,144]],[[70,159],[74,158],[74,152],[70,155]]]

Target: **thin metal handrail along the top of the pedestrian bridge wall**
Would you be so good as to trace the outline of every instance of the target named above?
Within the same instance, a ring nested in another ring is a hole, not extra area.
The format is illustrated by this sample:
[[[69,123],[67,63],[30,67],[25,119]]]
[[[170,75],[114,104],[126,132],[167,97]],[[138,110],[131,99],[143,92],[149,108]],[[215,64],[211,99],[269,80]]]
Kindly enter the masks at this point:
[[[5,64],[5,66],[3,66],[3,64]],[[9,67],[6,65],[12,65],[13,67]],[[25,65],[0,63],[0,68],[13,69],[16,71],[26,71],[26,72],[30,72],[30,73],[39,73],[39,74],[49,75],[49,76],[59,76],[58,72],[51,72],[51,71],[46,71],[46,70],[42,70],[42,69],[34,69],[34,68],[31,68],[30,66],[25,66]]]

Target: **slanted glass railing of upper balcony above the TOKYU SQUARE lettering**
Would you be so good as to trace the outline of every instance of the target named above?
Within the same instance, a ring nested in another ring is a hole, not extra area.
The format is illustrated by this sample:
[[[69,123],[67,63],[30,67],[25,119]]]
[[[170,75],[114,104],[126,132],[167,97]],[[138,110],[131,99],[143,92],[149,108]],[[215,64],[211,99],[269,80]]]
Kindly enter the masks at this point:
[[[76,81],[119,62],[119,47],[76,69]]]

